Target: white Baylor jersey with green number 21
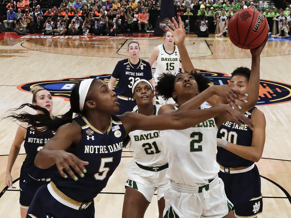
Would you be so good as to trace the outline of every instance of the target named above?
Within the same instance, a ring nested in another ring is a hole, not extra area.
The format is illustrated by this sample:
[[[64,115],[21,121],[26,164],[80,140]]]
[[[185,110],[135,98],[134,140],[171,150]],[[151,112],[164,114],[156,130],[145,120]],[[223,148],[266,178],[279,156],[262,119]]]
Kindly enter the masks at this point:
[[[162,105],[154,105],[154,115],[158,114]],[[138,113],[138,109],[133,112]],[[162,147],[162,138],[160,132],[163,131],[143,131],[135,130],[128,135],[131,139],[132,149],[134,151],[134,160],[147,167],[161,166],[168,161]]]

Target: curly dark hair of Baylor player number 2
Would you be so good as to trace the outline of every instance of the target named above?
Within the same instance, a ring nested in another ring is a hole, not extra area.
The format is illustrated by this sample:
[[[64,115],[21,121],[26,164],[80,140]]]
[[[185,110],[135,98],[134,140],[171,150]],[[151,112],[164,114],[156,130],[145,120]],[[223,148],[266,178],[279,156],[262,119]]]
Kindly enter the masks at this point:
[[[205,89],[209,87],[208,83],[210,83],[209,78],[203,76],[201,73],[197,73],[196,71],[191,71],[190,73],[185,72],[187,74],[192,75],[195,78],[195,81],[198,85],[199,92],[203,92]],[[163,99],[168,100],[172,97],[172,93],[175,91],[174,85],[175,85],[175,78],[182,73],[178,74],[171,74],[171,73],[163,73],[161,76],[158,77],[158,83],[155,87],[157,95],[162,96]],[[177,101],[177,98],[174,99],[175,102]]]

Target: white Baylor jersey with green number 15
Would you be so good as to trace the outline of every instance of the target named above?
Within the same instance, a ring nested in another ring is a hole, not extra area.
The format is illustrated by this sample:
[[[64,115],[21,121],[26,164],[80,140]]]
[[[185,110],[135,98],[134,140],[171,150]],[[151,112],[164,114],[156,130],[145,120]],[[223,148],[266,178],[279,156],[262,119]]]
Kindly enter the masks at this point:
[[[174,45],[173,53],[169,54],[164,48],[164,44],[158,45],[159,56],[156,60],[156,71],[154,74],[155,79],[162,74],[171,72],[172,74],[179,72],[180,67],[180,53],[177,45]],[[156,80],[155,80],[156,81]]]

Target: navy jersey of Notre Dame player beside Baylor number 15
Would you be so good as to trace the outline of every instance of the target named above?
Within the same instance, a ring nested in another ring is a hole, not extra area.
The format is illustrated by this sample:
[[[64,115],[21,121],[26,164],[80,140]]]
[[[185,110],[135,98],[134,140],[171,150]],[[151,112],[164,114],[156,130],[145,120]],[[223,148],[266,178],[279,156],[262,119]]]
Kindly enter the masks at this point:
[[[132,64],[127,58],[117,62],[111,76],[119,79],[114,92],[117,95],[132,97],[131,89],[135,81],[152,79],[152,68],[145,60],[139,59],[137,64]]]

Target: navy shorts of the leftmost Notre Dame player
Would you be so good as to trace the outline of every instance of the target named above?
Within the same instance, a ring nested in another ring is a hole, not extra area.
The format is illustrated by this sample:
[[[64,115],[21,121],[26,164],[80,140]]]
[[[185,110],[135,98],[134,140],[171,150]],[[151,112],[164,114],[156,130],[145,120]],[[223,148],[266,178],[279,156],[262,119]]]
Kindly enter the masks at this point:
[[[20,197],[19,204],[22,208],[28,208],[34,194],[38,188],[42,185],[47,185],[48,182],[41,182],[31,178],[29,175],[22,176],[19,178],[19,188],[20,188]]]

